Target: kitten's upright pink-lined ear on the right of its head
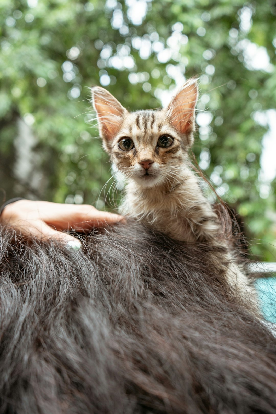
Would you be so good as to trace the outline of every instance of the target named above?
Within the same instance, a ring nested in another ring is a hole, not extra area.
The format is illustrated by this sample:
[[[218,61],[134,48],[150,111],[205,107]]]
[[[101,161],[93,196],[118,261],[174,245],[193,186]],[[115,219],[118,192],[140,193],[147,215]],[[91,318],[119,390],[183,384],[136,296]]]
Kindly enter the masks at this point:
[[[183,135],[187,145],[192,145],[194,142],[193,132],[197,95],[197,81],[190,79],[177,92],[166,108],[166,115],[171,125]]]

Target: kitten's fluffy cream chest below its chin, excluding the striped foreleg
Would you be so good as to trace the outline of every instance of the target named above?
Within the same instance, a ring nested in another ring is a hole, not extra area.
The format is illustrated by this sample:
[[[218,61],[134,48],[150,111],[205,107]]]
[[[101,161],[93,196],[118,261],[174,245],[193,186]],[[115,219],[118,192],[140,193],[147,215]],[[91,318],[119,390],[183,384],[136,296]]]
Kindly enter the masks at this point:
[[[125,194],[120,206],[122,214],[142,219],[172,238],[194,242],[199,238],[211,240],[217,236],[216,214],[189,169],[177,174],[171,172],[166,184],[160,188],[157,185],[140,188],[130,182],[126,185]]]

